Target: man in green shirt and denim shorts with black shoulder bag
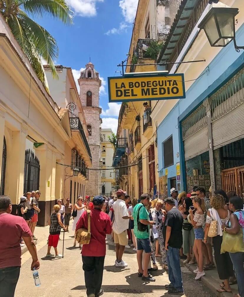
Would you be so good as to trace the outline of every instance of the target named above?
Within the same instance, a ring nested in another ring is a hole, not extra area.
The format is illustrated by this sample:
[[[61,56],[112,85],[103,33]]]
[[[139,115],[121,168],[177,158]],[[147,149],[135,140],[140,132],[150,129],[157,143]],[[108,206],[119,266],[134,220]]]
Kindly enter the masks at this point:
[[[155,282],[155,278],[148,274],[147,268],[151,259],[151,245],[149,241],[149,229],[154,222],[149,221],[149,214],[146,206],[149,203],[148,194],[141,195],[141,202],[133,209],[134,233],[137,239],[137,262],[138,276],[148,282]],[[142,253],[144,254],[144,270],[142,269]]]

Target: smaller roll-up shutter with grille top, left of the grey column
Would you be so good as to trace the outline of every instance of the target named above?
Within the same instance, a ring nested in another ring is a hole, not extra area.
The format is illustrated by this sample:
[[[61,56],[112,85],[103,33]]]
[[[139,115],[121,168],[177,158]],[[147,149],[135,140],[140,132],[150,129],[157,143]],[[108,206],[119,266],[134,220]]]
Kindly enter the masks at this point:
[[[206,108],[201,104],[182,122],[185,161],[208,151]]]

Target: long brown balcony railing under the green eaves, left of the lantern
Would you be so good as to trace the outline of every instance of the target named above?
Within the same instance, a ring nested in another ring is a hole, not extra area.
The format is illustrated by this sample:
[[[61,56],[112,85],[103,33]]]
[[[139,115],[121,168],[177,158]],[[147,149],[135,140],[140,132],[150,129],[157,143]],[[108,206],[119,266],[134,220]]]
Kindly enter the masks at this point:
[[[183,49],[184,45],[186,44],[188,37],[192,33],[196,23],[198,22],[200,16],[202,15],[202,12],[205,10],[207,5],[208,5],[208,0],[200,0],[200,1],[198,1],[198,4],[194,7],[192,15],[186,23],[185,29],[184,29],[183,33],[181,34],[181,37],[176,45],[176,48],[173,51],[170,58],[168,59],[168,62],[172,63],[172,64],[166,65],[166,69],[169,72],[170,72],[171,68],[173,67],[179,54],[181,53],[181,50]]]

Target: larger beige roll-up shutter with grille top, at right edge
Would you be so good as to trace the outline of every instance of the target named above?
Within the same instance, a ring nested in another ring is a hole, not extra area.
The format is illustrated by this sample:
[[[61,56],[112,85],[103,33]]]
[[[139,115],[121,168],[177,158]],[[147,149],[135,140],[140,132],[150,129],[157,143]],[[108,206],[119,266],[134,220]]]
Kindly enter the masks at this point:
[[[211,97],[213,149],[244,138],[244,68]]]

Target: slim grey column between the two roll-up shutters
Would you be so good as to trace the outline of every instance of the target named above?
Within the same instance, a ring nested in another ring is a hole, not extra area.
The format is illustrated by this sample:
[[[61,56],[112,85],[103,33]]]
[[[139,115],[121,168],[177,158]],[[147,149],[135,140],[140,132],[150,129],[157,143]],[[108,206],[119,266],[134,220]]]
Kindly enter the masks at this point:
[[[210,163],[210,180],[212,186],[212,193],[216,189],[215,183],[215,171],[214,171],[214,157],[213,157],[213,135],[212,135],[212,123],[211,123],[211,108],[210,108],[210,99],[206,99],[203,104],[206,108],[207,113],[207,124],[208,124],[208,152],[209,152],[209,163]]]

